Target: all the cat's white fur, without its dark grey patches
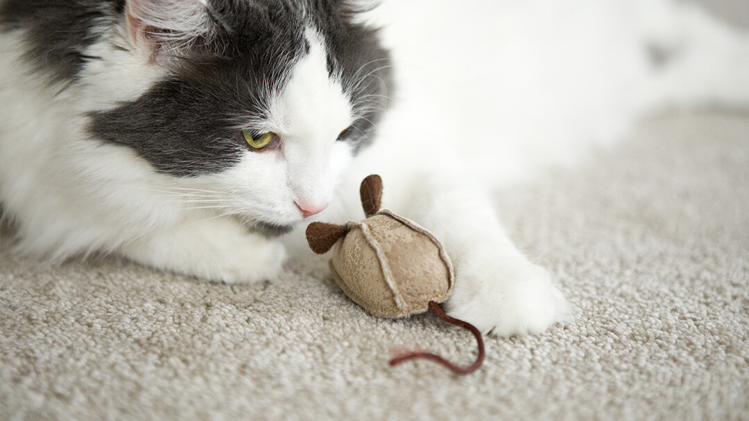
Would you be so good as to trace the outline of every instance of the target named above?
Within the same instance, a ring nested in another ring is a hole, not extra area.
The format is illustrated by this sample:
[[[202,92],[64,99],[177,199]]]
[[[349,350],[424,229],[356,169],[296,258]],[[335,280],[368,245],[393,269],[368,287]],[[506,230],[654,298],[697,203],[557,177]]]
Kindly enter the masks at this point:
[[[149,25],[204,28],[192,12],[165,23],[150,3],[130,4]],[[358,184],[380,173],[385,206],[432,230],[455,262],[449,312],[482,331],[537,333],[564,319],[567,304],[512,245],[482,183],[455,156],[483,182],[502,185],[574,162],[646,111],[749,101],[748,37],[670,0],[399,0],[377,13],[389,25],[400,93],[376,146],[355,165],[348,145],[336,142],[354,119],[343,94],[351,81],[328,78],[324,45],[310,29],[312,49],[274,97],[270,119],[240,122],[279,133],[282,148],[190,179],[155,173],[130,150],[82,131],[85,112],[136,98],[166,71],[136,51],[139,39],[124,22],[91,46],[103,60],[84,70],[85,84],[57,96],[61,87],[28,75],[17,34],[1,34],[0,200],[20,222],[19,247],[52,259],[121,253],[212,280],[266,279],[281,270],[284,246],[243,225],[299,222],[295,203],[330,202],[324,221],[359,219]],[[648,44],[673,52],[666,67],[649,63]],[[300,239],[297,232],[288,245]]]

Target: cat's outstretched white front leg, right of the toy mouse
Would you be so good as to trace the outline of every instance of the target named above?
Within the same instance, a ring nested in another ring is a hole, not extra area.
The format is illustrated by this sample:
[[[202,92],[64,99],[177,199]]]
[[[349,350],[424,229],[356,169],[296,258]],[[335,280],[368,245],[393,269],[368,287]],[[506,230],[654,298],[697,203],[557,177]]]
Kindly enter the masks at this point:
[[[518,251],[485,192],[460,174],[384,180],[384,206],[431,230],[451,256],[456,278],[448,313],[500,336],[538,334],[565,321],[568,305],[548,272]]]

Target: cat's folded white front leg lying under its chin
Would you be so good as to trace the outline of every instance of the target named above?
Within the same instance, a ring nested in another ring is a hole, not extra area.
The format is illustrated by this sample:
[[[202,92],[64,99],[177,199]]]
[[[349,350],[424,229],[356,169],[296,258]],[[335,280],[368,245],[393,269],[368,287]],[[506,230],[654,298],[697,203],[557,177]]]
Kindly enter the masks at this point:
[[[248,233],[238,221],[187,221],[130,242],[121,252],[152,268],[226,283],[275,278],[285,250],[281,242]]]

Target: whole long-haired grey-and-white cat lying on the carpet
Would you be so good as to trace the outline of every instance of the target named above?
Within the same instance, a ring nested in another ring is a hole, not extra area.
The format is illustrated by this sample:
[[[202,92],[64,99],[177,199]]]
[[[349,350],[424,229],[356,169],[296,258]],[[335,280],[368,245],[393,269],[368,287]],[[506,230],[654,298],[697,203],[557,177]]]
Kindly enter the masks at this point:
[[[746,37],[667,0],[0,0],[0,25],[20,252],[273,279],[311,254],[306,223],[361,219],[379,173],[383,206],[446,245],[448,313],[499,336],[570,307],[485,182],[574,161],[646,111],[749,98]]]

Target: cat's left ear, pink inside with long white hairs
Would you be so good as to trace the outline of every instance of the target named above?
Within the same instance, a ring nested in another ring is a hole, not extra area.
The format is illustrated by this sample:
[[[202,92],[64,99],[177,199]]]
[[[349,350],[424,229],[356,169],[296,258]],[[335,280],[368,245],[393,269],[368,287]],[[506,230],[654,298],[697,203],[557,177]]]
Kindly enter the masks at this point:
[[[180,56],[213,35],[208,0],[127,0],[130,41],[153,60]]]

